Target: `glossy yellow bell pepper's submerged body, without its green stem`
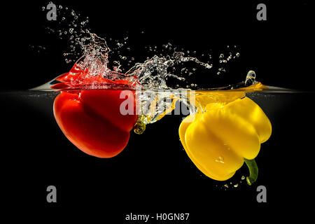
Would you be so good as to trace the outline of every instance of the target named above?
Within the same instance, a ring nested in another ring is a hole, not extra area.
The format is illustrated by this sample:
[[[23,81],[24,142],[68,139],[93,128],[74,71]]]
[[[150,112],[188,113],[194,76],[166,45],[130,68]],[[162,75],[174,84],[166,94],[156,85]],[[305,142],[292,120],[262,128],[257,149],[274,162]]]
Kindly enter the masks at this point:
[[[196,101],[198,102],[198,101]],[[254,159],[272,125],[248,97],[232,102],[202,102],[203,113],[185,118],[179,137],[190,160],[211,179],[230,179],[244,158]]]

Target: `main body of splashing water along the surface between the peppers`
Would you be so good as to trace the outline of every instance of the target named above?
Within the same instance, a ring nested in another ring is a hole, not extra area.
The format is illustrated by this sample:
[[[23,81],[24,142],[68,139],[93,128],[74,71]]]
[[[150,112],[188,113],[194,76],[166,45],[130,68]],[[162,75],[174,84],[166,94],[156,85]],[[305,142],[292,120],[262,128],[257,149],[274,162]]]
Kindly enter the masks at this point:
[[[95,89],[116,89],[116,90],[141,90],[136,91],[137,102],[144,113],[140,116],[144,124],[155,123],[167,113],[174,110],[177,101],[183,102],[188,106],[189,113],[195,113],[197,110],[203,110],[198,104],[191,105],[188,94],[192,90],[180,87],[181,82],[186,80],[178,73],[171,73],[169,68],[174,68],[185,62],[193,62],[204,69],[211,69],[212,64],[200,62],[196,57],[186,57],[184,52],[175,51],[172,56],[154,55],[143,63],[136,63],[126,73],[121,73],[119,66],[109,69],[110,48],[104,38],[96,34],[88,33],[89,36],[76,38],[78,45],[83,50],[83,56],[80,57],[68,73],[58,76],[54,80],[36,87],[32,90],[64,91],[64,90],[95,90]],[[171,88],[167,85],[167,80],[173,78],[179,84],[177,88]],[[216,94],[214,90],[241,90],[241,87],[252,86],[247,91],[263,90],[264,86],[255,81],[255,72],[249,71],[246,80],[236,85],[229,85],[209,90],[197,90],[193,92],[193,97],[197,96],[197,103],[202,100],[216,102],[230,102],[237,97],[229,98],[229,94]],[[138,89],[139,90],[139,89]],[[181,90],[183,92],[181,92]],[[207,92],[208,91],[208,92]],[[211,92],[209,92],[211,91]],[[244,90],[243,90],[244,91]],[[233,94],[234,96],[235,94]],[[191,96],[190,96],[191,97]],[[200,103],[202,105],[202,103]],[[186,115],[188,115],[187,113]]]

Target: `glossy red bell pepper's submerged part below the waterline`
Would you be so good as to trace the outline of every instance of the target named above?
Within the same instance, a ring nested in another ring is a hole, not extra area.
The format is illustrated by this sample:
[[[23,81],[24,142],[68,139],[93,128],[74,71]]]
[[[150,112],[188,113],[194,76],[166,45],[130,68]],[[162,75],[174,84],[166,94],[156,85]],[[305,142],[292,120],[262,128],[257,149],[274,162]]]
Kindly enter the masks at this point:
[[[120,113],[122,90],[62,92],[54,115],[64,135],[81,151],[98,158],[118,155],[130,138],[137,115]],[[130,94],[134,94],[131,92]],[[134,102],[134,108],[135,108]],[[135,109],[134,109],[135,110]]]

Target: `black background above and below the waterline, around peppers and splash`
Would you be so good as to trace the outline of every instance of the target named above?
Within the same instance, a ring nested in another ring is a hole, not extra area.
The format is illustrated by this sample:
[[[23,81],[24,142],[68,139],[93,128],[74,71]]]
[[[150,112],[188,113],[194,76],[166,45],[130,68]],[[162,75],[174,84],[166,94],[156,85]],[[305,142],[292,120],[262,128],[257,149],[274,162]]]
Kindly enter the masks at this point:
[[[115,158],[102,160],[81,153],[55,124],[50,94],[27,97],[7,91],[41,85],[71,67],[62,56],[64,43],[43,30],[48,21],[41,7],[47,3],[6,3],[2,10],[2,193],[10,211],[25,211],[23,217],[30,218],[89,214],[104,223],[127,223],[125,215],[131,212],[190,213],[190,223],[270,215],[304,218],[314,212],[311,93],[257,99],[272,121],[273,134],[262,144],[257,158],[260,176],[251,187],[243,181],[238,188],[225,190],[223,185],[230,181],[213,181],[199,172],[182,150],[177,134],[180,116],[166,116],[141,136],[132,133],[127,148]],[[253,69],[266,85],[314,90],[314,22],[308,1],[265,2],[267,21],[256,20],[258,3],[61,4],[88,16],[99,36],[121,38],[129,31],[136,49],[172,42],[188,50],[211,49],[218,55],[226,45],[237,45],[240,60],[216,80],[219,86],[243,80]],[[47,50],[37,52],[30,45],[45,45]],[[134,54],[141,58],[143,52]],[[246,174],[242,168],[232,182]],[[50,185],[57,187],[56,204],[45,199]],[[267,188],[267,203],[256,201],[260,185]]]

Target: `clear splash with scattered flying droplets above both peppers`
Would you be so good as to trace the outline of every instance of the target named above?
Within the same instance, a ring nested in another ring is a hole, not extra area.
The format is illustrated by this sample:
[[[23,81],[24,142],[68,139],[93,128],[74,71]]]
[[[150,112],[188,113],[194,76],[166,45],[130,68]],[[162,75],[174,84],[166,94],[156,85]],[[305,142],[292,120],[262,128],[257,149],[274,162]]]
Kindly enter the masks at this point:
[[[70,52],[64,53],[64,56],[83,56],[77,59],[76,63],[68,73],[64,73],[62,76],[58,76],[54,80],[31,90],[136,90],[136,87],[140,86],[141,90],[145,91],[137,92],[137,99],[142,111],[145,111],[144,113],[146,116],[141,116],[141,122],[145,124],[154,123],[155,121],[160,120],[167,113],[172,112],[177,101],[181,101],[186,104],[190,113],[195,113],[197,109],[202,110],[202,108],[197,104],[190,105],[190,99],[187,96],[187,92],[190,93],[190,87],[196,87],[197,84],[188,83],[190,85],[185,85],[184,82],[186,77],[183,76],[183,73],[188,73],[188,76],[192,76],[194,75],[195,70],[193,69],[194,72],[188,72],[186,67],[182,67],[184,63],[190,62],[209,70],[212,69],[213,64],[201,62],[199,59],[197,59],[197,57],[186,56],[185,52],[183,51],[175,51],[176,48],[172,48],[172,45],[168,43],[167,45],[163,45],[163,48],[168,50],[173,49],[174,52],[171,55],[154,55],[142,63],[138,62],[134,64],[134,66],[132,66],[125,73],[123,73],[119,61],[114,61],[116,66],[113,66],[113,69],[110,69],[109,55],[111,53],[111,49],[107,45],[106,40],[97,36],[96,34],[93,34],[89,29],[87,29],[86,25],[88,18],[79,22],[78,15],[73,10],[71,10],[71,18],[72,20],[69,24],[69,27],[66,26],[66,31],[57,31],[60,38],[62,38],[63,35],[69,35]],[[79,25],[77,25],[78,22]],[[116,41],[117,46],[114,48],[114,50],[119,52],[119,49],[125,45],[126,41],[127,37],[124,38],[123,43]],[[150,50],[152,51],[151,47]],[[239,52],[237,52],[234,56],[231,52],[228,54],[228,56],[221,54],[219,56],[219,62],[220,64],[226,64],[228,61],[236,57],[239,57]],[[120,59],[125,61],[127,60],[127,57],[120,55]],[[71,62],[71,60],[72,59],[66,58],[67,63]],[[132,61],[133,60],[130,60],[129,63]],[[180,70],[180,72],[177,70]],[[218,74],[224,71],[224,66],[221,66],[218,69]],[[176,88],[169,86],[169,80],[172,80],[173,83],[176,84]],[[246,79],[241,83],[228,85],[227,87],[204,90],[206,92],[200,92],[199,90],[194,94],[198,96],[199,101],[216,100],[220,102],[220,100],[223,100],[222,94],[214,94],[213,92],[207,91],[237,91],[241,90],[242,87],[249,87],[246,89],[246,91],[260,91],[266,88],[264,85],[261,85],[261,83],[258,83],[255,80],[254,71],[248,71]],[[175,90],[184,90],[186,94],[182,94],[181,91]],[[226,94],[224,97],[223,98],[225,102],[229,102],[229,100],[235,100],[234,98],[226,99]]]

